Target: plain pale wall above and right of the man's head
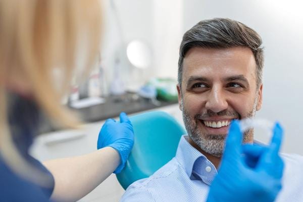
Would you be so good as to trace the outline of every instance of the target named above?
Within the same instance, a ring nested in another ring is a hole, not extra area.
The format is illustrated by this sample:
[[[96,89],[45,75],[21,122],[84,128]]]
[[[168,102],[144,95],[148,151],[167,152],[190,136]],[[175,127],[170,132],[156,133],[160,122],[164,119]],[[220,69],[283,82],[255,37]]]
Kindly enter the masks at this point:
[[[198,21],[227,17],[255,29],[265,46],[263,108],[258,117],[279,120],[283,151],[303,155],[303,3],[295,0],[186,0],[183,32]],[[266,138],[257,136],[258,139]]]

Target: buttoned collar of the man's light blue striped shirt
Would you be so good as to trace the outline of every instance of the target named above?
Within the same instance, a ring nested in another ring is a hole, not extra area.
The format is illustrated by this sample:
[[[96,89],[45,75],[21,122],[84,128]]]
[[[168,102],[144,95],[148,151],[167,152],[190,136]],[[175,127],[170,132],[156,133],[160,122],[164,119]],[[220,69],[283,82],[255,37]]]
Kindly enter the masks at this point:
[[[202,180],[210,185],[217,174],[217,169],[203,154],[190,145],[187,139],[187,135],[181,137],[176,159],[191,180]]]

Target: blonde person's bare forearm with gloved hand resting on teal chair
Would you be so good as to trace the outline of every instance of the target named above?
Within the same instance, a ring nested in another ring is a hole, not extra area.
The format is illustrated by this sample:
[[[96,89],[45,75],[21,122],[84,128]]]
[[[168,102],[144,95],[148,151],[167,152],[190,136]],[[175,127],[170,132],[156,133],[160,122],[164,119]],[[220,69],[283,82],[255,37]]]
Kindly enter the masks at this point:
[[[79,200],[113,172],[120,172],[132,149],[133,140],[132,125],[126,114],[121,113],[120,122],[109,119],[103,125],[98,136],[98,150],[87,155],[44,162],[55,178],[51,198]]]

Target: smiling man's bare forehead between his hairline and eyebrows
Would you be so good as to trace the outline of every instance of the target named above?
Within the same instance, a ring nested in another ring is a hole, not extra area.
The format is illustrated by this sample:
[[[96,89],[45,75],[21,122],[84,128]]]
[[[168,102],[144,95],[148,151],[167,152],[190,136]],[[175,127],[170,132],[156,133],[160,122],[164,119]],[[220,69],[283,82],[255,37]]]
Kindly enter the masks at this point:
[[[219,74],[225,77],[246,75],[256,78],[254,54],[247,47],[193,47],[183,61],[183,79],[189,76]]]

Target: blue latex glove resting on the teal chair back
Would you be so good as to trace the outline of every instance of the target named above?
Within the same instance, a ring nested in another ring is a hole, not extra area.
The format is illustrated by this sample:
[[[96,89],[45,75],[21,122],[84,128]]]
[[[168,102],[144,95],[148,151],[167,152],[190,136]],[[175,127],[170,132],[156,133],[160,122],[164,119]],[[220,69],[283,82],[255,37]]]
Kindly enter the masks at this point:
[[[118,151],[121,158],[121,164],[114,173],[120,173],[124,168],[133,144],[134,131],[132,124],[127,115],[122,112],[120,114],[120,123],[116,122],[114,119],[106,120],[99,132],[97,148],[111,146]]]

